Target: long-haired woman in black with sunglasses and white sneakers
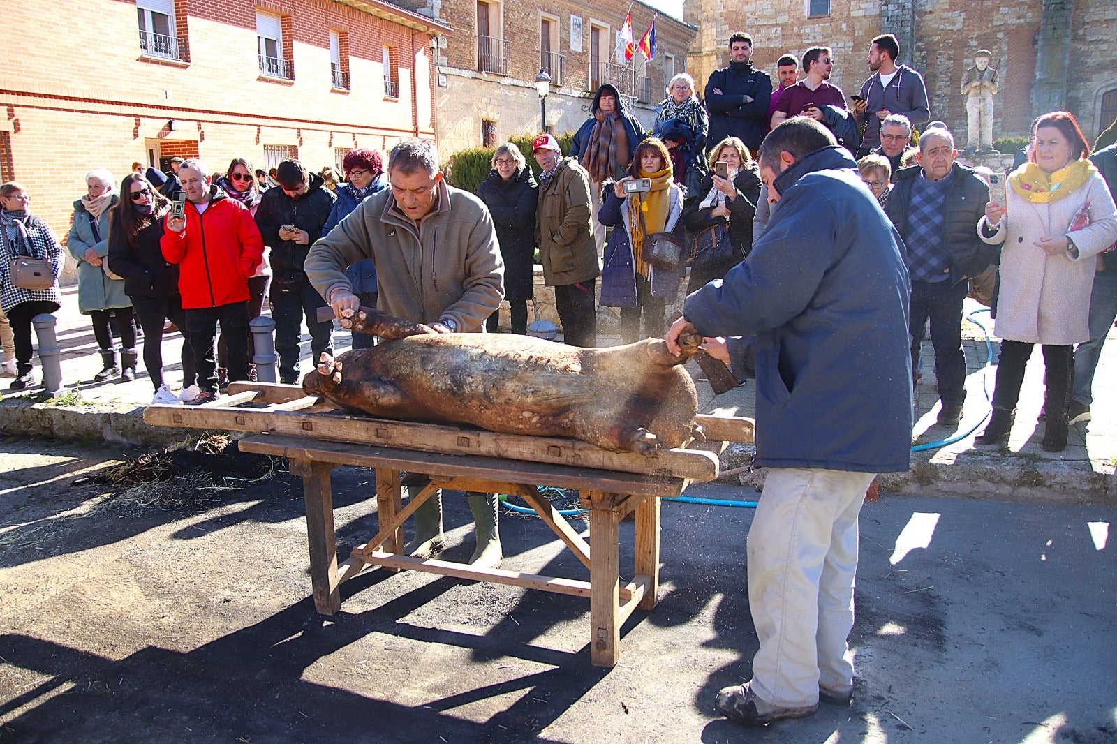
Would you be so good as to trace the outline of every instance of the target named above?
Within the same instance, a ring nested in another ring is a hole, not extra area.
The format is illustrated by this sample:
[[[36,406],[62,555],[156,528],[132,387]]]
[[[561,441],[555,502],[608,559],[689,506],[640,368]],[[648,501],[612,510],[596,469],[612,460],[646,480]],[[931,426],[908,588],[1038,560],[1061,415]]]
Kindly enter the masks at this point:
[[[143,328],[143,363],[155,388],[152,403],[179,403],[163,381],[163,325],[170,319],[180,328],[185,317],[179,294],[179,267],[163,260],[159,241],[163,217],[171,202],[144,177],[133,173],[121,182],[122,199],[108,214],[108,264],[124,277],[124,292],[132,299]],[[182,388],[194,384],[194,354],[182,338]]]

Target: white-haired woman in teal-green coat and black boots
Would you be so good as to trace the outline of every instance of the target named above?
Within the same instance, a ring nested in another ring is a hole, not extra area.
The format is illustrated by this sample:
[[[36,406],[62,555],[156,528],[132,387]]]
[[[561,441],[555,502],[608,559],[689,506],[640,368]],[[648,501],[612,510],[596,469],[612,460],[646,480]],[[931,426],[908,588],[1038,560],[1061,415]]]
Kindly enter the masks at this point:
[[[132,301],[124,290],[124,282],[112,269],[108,255],[108,209],[116,204],[116,180],[103,168],[85,177],[86,195],[74,202],[74,220],[66,250],[77,260],[77,307],[93,323],[93,335],[101,349],[103,369],[93,375],[94,382],[120,375],[117,382],[135,380],[136,331]],[[123,349],[117,355],[109,328],[116,316],[117,331]]]

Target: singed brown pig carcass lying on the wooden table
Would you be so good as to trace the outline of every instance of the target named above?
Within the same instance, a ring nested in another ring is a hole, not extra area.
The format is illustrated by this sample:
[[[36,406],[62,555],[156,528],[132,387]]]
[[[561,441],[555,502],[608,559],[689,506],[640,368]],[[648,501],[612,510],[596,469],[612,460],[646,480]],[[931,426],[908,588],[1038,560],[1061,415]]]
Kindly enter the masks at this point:
[[[579,349],[508,334],[435,333],[361,308],[342,321],[383,343],[337,359],[323,354],[303,379],[307,394],[408,421],[571,437],[611,451],[648,454],[691,436],[698,399],[682,368],[701,337]]]

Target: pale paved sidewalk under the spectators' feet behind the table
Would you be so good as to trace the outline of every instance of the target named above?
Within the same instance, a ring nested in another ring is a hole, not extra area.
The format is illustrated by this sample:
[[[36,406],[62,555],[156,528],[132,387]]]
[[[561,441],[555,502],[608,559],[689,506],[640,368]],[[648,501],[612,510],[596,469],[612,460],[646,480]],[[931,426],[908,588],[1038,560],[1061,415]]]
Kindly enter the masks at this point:
[[[981,309],[966,301],[966,312]],[[267,311],[265,311],[265,314]],[[142,423],[142,409],[151,402],[153,385],[141,364],[133,382],[109,381],[94,383],[93,375],[101,370],[101,357],[87,316],[77,312],[77,288],[63,290],[63,308],[57,314],[58,340],[61,346],[63,380],[67,392],[73,393],[54,403],[35,402],[41,388],[30,391],[9,391],[7,381],[0,381],[0,430],[9,433],[42,433],[59,438],[87,438],[99,436],[112,441],[132,443],[160,443],[179,436],[173,430],[153,431]],[[977,319],[992,328],[989,314],[978,313]],[[1117,333],[1117,332],[1114,332]],[[1111,335],[1114,335],[1111,333]],[[1071,427],[1070,442],[1059,454],[1042,451],[1040,440],[1043,425],[1038,421],[1043,402],[1043,362],[1039,350],[1032,355],[1020,395],[1016,425],[1008,448],[975,449],[973,439],[984,430],[989,411],[987,394],[992,395],[994,368],[986,368],[985,332],[972,322],[963,328],[968,376],[965,413],[955,430],[935,423],[938,413],[938,394],[935,390],[934,351],[929,340],[924,343],[920,371],[923,380],[916,388],[917,422],[916,445],[962,438],[954,443],[917,452],[913,469],[905,476],[884,479],[886,490],[926,494],[956,494],[964,496],[1001,496],[1039,498],[1040,494],[1054,492],[1066,500],[1117,499],[1117,426],[1111,412],[1117,410],[1117,338],[1106,344],[1095,375],[1091,406],[1094,420]],[[603,336],[602,342],[618,343]],[[140,341],[142,346],[143,341]],[[181,383],[179,353],[182,336],[172,333],[163,338],[164,376],[172,389]],[[349,331],[336,330],[334,347],[343,352],[351,347]],[[311,369],[309,335],[303,335],[303,373]],[[997,343],[993,341],[993,356]],[[694,365],[690,365],[694,368]],[[693,370],[698,374],[697,370]],[[714,397],[709,387],[699,382],[699,408],[707,412],[731,412],[737,416],[754,414],[754,388],[750,382],[723,395]],[[94,423],[83,417],[101,417]],[[30,423],[29,423],[30,422]],[[763,474],[745,477],[745,485],[758,485]]]

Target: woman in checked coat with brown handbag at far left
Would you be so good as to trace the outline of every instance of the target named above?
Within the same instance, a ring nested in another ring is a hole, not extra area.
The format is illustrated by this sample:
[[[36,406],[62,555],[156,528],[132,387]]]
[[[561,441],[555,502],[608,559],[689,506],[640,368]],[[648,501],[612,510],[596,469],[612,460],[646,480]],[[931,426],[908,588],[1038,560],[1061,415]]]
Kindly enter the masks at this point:
[[[8,385],[23,390],[36,384],[31,372],[31,318],[61,307],[58,277],[63,273],[63,248],[47,223],[30,213],[31,198],[15,181],[0,185],[0,307],[8,316],[16,342],[16,379]],[[9,276],[16,256],[47,258],[55,283],[47,289],[17,287]]]

